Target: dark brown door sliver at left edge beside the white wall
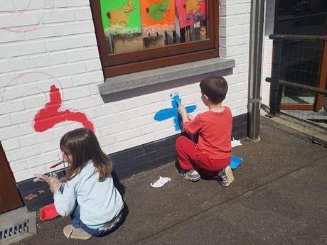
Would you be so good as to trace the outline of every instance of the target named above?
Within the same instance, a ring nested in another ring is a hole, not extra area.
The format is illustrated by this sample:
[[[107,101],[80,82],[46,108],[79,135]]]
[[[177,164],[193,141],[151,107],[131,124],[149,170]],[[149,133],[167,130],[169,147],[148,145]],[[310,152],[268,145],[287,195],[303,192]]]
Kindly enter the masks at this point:
[[[0,214],[22,206],[21,195],[0,142]]]

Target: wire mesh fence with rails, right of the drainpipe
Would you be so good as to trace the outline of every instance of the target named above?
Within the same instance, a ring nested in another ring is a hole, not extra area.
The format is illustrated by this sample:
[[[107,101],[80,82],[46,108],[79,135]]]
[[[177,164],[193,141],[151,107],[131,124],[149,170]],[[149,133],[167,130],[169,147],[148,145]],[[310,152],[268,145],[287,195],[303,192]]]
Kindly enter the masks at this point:
[[[327,36],[270,35],[270,116],[284,113],[327,129]]]

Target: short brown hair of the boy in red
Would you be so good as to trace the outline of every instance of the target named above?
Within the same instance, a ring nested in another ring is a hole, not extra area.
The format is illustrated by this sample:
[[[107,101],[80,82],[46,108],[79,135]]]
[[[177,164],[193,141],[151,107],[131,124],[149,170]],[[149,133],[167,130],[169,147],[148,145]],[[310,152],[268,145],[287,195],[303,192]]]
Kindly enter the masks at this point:
[[[224,77],[205,77],[200,82],[201,93],[208,96],[213,104],[223,102],[228,91],[228,85]]]

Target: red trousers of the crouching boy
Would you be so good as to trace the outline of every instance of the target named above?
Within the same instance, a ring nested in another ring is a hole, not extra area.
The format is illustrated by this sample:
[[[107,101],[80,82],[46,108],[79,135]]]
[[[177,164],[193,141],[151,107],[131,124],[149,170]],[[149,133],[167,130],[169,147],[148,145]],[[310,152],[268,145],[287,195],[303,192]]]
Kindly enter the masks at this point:
[[[219,170],[230,165],[230,158],[212,159],[201,153],[196,144],[186,136],[177,138],[176,151],[179,165],[184,170],[195,168],[208,176],[217,177]]]

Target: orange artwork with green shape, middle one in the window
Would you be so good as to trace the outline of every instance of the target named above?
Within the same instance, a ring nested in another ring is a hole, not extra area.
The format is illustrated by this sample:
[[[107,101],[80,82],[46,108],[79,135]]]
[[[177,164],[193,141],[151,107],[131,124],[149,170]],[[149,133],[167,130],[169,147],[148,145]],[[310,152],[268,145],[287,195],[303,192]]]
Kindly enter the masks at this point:
[[[175,30],[175,0],[142,0],[140,7],[144,35]]]

